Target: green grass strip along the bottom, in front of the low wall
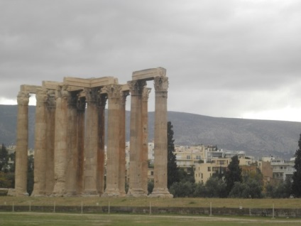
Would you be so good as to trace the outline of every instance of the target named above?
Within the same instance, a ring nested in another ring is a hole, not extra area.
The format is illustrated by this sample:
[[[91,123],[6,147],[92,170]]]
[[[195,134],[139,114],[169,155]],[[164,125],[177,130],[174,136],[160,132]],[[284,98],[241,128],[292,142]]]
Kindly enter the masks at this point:
[[[0,212],[0,225],[301,225],[301,220],[265,217],[199,217],[179,215],[109,215]]]

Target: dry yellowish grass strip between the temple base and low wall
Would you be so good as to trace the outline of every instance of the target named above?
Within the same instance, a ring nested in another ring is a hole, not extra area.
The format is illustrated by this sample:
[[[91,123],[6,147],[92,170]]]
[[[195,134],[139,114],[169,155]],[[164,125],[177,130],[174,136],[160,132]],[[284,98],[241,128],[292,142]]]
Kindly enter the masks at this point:
[[[0,205],[149,206],[212,208],[301,208],[301,199],[236,198],[100,198],[100,197],[0,197]]]

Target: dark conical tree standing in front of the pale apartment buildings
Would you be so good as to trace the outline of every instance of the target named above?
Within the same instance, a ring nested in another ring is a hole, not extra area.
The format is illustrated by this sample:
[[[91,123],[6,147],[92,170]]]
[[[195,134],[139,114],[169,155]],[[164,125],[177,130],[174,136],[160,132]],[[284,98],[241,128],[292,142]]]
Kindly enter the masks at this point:
[[[225,173],[226,192],[229,194],[235,182],[242,182],[241,168],[239,167],[239,156],[233,156]]]

